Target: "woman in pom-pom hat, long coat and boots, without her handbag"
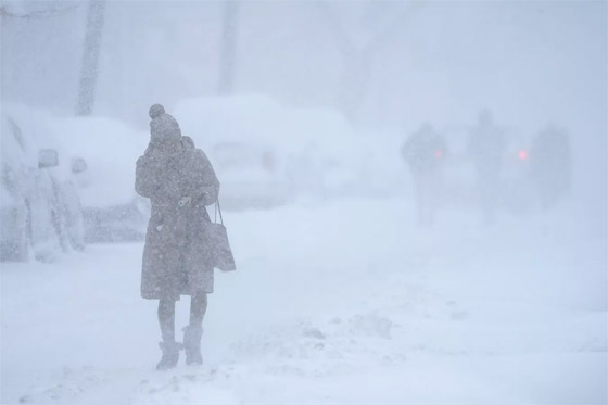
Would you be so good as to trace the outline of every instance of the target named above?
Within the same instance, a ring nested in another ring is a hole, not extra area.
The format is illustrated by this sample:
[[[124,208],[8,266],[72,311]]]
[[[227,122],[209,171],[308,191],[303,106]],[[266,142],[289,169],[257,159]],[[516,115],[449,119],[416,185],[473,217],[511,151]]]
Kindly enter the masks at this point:
[[[187,364],[202,364],[202,324],[213,292],[213,263],[205,206],[215,203],[219,181],[200,149],[182,137],[160,104],[150,107],[150,145],[137,161],[136,191],[150,199],[141,296],[159,300],[163,356],[156,369],[175,367],[183,347]],[[175,302],[190,295],[183,344],[175,340]]]

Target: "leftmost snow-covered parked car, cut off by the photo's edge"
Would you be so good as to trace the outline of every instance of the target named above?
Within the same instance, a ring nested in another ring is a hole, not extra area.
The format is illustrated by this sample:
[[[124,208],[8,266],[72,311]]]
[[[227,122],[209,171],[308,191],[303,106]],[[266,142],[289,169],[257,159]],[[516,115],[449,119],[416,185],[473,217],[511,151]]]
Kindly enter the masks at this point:
[[[0,260],[52,262],[84,249],[78,193],[62,176],[45,115],[24,106],[1,117]]]

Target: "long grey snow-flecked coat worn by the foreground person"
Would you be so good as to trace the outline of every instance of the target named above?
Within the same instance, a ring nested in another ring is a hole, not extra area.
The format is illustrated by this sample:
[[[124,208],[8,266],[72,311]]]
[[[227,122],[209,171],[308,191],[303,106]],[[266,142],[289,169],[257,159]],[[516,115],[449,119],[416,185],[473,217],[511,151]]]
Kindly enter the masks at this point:
[[[219,181],[206,155],[181,143],[170,151],[150,147],[137,161],[135,187],[152,203],[141,296],[179,300],[213,292],[205,205],[216,201]]]

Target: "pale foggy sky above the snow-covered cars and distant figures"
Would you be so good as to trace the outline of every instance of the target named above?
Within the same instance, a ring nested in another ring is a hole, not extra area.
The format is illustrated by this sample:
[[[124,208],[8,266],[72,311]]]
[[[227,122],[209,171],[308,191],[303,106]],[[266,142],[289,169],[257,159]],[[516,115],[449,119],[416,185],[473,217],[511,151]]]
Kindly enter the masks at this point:
[[[2,17],[2,100],[71,114],[86,7],[3,4],[14,14],[68,7],[49,18]],[[340,107],[340,94],[356,87],[349,84],[365,81],[355,122],[398,131],[426,121],[470,125],[482,106],[524,134],[553,122],[575,139],[579,186],[586,181],[588,198],[606,202],[605,1],[327,4],[333,18],[315,1],[241,3],[235,91]],[[96,113],[145,128],[151,103],[170,111],[180,99],[213,94],[220,15],[220,2],[110,1]],[[363,59],[365,80],[344,58],[335,24],[355,50],[383,33]]]

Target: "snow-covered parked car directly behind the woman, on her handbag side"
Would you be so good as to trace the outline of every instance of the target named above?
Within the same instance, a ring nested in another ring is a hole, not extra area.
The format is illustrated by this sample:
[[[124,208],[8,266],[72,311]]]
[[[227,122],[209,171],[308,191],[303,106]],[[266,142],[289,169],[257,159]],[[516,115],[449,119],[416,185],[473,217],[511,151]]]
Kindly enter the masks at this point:
[[[262,96],[185,100],[175,109],[182,135],[210,157],[221,183],[221,206],[267,208],[289,201],[287,156],[270,117],[279,106]]]

